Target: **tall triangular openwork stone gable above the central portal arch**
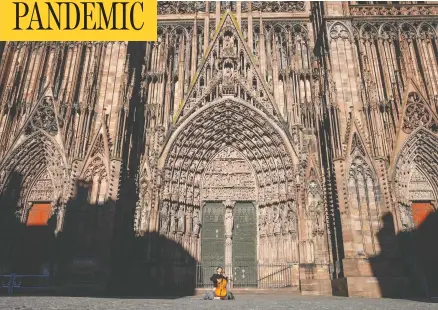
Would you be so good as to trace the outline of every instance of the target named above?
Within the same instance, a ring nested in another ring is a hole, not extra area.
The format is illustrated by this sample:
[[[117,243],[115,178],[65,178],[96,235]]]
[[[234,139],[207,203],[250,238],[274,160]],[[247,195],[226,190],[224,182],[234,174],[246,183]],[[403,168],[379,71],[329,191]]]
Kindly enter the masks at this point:
[[[266,82],[261,78],[242,34],[229,14],[221,21],[221,29],[211,46],[180,107],[177,115],[179,122],[222,96],[246,100],[279,122],[276,105],[265,87]]]

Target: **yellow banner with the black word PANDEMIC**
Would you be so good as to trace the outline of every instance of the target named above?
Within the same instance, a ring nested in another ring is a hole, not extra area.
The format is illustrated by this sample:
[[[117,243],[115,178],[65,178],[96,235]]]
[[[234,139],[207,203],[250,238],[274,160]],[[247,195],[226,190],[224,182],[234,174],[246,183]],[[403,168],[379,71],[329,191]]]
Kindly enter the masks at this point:
[[[156,41],[157,0],[0,0],[0,41]]]

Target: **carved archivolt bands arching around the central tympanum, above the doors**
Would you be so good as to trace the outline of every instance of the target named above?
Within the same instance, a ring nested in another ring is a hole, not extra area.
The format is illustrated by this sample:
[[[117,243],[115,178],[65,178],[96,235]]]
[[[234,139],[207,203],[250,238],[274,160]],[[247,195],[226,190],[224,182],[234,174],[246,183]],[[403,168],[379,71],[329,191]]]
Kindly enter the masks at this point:
[[[287,187],[290,187],[290,193],[293,192],[294,172],[282,140],[264,117],[245,103],[220,100],[198,113],[181,130],[178,140],[169,150],[164,173],[168,182],[163,198],[170,199],[171,194],[182,196],[184,200],[192,197],[190,202],[199,205],[202,172],[210,158],[224,146],[238,150],[260,176],[257,177],[261,190],[259,201],[285,197]],[[181,192],[183,188],[184,192]],[[186,191],[191,193],[186,195]]]

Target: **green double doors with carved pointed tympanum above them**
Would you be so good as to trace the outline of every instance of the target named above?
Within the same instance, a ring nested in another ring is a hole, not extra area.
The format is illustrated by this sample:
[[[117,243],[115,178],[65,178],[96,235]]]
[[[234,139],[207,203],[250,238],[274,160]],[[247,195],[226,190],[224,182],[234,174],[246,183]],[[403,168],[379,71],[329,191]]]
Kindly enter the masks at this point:
[[[257,283],[256,178],[244,156],[227,146],[203,175],[201,264],[204,283],[218,266],[233,286]]]

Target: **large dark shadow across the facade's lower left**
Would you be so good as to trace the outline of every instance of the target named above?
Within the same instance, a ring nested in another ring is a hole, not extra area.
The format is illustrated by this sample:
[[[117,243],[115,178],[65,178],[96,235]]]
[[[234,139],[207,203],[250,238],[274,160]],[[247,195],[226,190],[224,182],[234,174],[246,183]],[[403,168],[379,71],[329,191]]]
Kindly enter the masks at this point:
[[[28,226],[20,220],[21,180],[12,174],[0,196],[0,274],[50,275],[49,294],[57,295],[194,294],[195,260],[175,241],[156,233],[137,237],[132,224],[120,227],[133,221],[116,212],[123,208],[120,202],[89,203],[90,184],[78,182],[76,195],[66,204],[62,230],[55,234],[56,213],[47,225]],[[126,218],[120,221],[117,215]]]

